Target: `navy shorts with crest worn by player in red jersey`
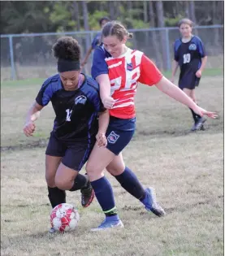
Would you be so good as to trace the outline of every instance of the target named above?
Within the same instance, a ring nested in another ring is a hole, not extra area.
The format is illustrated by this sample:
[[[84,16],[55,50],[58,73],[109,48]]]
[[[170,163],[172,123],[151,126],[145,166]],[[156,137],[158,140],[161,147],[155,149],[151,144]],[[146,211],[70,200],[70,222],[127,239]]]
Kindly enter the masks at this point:
[[[110,116],[110,124],[106,131],[106,148],[118,155],[132,140],[136,128],[136,118],[119,119]]]

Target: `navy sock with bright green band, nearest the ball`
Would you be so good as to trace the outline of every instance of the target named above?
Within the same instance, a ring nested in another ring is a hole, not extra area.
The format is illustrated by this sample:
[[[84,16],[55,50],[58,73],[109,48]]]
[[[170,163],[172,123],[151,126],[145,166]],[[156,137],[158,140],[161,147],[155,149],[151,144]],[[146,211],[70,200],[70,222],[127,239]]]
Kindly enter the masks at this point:
[[[113,190],[109,180],[103,176],[91,182],[95,196],[106,216],[117,215]]]

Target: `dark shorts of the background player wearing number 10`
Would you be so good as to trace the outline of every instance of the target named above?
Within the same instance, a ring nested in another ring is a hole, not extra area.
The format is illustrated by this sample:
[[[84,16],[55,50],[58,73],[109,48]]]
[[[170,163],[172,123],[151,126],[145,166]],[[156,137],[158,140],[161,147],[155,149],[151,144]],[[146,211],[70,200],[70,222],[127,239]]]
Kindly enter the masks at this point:
[[[195,72],[188,71],[183,75],[180,74],[179,88],[195,89],[195,87],[199,85],[199,82],[200,82],[200,78],[195,76]]]

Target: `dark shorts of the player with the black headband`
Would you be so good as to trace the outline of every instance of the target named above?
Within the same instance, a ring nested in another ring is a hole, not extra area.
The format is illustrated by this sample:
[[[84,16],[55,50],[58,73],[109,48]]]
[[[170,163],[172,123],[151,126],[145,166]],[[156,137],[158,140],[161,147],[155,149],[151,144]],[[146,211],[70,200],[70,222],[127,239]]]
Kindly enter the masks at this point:
[[[50,133],[50,141],[45,154],[62,157],[62,163],[73,170],[80,169],[87,162],[96,139],[95,136],[88,142],[87,139],[77,141],[63,141],[55,137],[54,132]]]

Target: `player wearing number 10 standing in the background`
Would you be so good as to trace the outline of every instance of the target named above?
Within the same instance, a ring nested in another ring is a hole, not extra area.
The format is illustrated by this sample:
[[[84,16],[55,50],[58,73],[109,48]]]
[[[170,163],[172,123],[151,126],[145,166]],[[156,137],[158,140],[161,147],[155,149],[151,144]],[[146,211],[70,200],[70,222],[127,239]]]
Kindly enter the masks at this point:
[[[191,20],[180,20],[179,28],[181,38],[175,41],[171,81],[174,82],[175,72],[180,66],[179,87],[193,99],[193,102],[196,102],[195,87],[199,85],[201,72],[206,66],[206,51],[201,39],[192,34],[193,22]],[[206,118],[197,115],[192,109],[190,110],[194,119],[191,130],[203,130]]]

